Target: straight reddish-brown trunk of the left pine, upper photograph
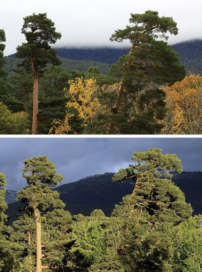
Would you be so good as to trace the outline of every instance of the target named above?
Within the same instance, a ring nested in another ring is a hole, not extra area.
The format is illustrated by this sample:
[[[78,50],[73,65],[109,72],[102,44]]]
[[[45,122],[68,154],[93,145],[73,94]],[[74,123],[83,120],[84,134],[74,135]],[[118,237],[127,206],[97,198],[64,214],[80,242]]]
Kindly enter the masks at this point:
[[[32,114],[32,134],[37,134],[38,129],[38,92],[39,92],[39,74],[34,66],[34,59],[32,59],[32,72],[33,72],[33,114]]]

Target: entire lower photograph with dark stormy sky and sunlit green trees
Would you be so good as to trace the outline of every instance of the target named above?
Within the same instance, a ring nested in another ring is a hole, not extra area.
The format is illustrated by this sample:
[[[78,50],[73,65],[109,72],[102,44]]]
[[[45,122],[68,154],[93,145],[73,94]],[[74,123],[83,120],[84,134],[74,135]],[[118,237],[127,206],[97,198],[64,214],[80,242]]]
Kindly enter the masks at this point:
[[[1,272],[202,271],[202,138],[0,138]]]

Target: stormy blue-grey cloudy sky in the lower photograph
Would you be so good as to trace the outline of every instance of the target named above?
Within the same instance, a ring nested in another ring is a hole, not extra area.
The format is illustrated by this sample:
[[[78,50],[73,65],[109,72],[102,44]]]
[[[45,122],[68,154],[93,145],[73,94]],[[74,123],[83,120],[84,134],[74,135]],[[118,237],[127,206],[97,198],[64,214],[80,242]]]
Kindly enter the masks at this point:
[[[63,175],[62,184],[89,175],[117,172],[131,163],[133,151],[162,148],[177,154],[184,171],[202,171],[202,138],[2,138],[0,172],[6,175],[7,189],[26,186],[23,161],[47,155]]]

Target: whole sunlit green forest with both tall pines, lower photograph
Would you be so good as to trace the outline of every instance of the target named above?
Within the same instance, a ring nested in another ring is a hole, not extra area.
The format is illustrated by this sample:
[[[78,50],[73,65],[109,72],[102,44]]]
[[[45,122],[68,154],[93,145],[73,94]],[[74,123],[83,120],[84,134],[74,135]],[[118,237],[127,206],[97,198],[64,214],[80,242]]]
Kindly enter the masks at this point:
[[[59,192],[62,176],[46,155],[24,161],[24,205],[8,225],[0,174],[0,271],[2,272],[198,272],[202,270],[202,215],[172,181],[181,173],[177,155],[150,148],[134,152],[114,182],[133,181],[133,190],[111,216],[94,210],[71,215]]]

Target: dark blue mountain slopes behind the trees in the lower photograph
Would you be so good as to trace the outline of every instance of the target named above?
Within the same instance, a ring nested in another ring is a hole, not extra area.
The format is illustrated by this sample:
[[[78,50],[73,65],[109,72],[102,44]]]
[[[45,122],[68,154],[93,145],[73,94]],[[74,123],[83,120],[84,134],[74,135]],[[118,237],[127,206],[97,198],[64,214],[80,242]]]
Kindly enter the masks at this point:
[[[124,195],[131,194],[134,188],[132,180],[125,183],[113,182],[113,175],[114,173],[105,173],[88,176],[61,185],[56,190],[71,214],[89,215],[94,209],[101,209],[106,215],[110,215],[115,204],[119,204]],[[186,201],[191,203],[194,214],[202,214],[202,172],[174,173],[173,181],[185,194]],[[15,191],[6,192],[6,202],[10,203],[7,214],[11,220],[15,219],[18,207],[22,206],[15,202],[15,198]]]

